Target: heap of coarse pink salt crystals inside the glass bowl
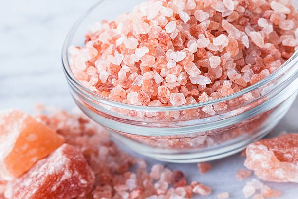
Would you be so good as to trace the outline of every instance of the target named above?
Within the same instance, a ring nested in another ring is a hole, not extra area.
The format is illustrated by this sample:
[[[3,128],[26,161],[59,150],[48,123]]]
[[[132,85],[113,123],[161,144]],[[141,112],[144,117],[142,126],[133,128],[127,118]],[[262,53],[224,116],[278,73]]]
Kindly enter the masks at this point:
[[[149,0],[94,27],[85,46],[69,48],[70,63],[76,79],[101,96],[185,105],[233,94],[276,71],[298,46],[297,27],[288,0]]]

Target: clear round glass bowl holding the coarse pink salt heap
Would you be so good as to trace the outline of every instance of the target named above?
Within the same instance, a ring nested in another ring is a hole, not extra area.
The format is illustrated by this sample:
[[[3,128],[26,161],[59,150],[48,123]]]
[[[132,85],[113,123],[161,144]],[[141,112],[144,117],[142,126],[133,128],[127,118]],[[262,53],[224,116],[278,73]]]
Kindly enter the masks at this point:
[[[130,105],[84,87],[71,71],[68,48],[84,44],[90,24],[113,19],[140,2],[100,1],[75,22],[62,52],[64,72],[75,103],[89,118],[104,126],[113,139],[153,159],[180,163],[208,161],[237,153],[261,139],[290,109],[298,90],[298,51],[258,83],[220,99],[191,105]],[[210,107],[217,110],[215,115],[205,113]],[[221,107],[226,109],[220,110]]]

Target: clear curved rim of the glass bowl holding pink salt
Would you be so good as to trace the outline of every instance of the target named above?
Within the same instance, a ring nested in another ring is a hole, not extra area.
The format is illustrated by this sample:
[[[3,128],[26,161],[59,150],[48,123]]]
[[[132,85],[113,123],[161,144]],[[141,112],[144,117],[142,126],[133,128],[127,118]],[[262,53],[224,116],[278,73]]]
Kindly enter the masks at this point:
[[[205,102],[198,102],[198,103],[195,103],[195,104],[180,105],[180,106],[158,106],[158,107],[153,107],[153,106],[132,105],[132,104],[127,104],[127,103],[111,100],[107,97],[104,97],[104,96],[101,96],[99,94],[94,93],[93,91],[91,91],[88,88],[86,88],[85,86],[83,86],[79,81],[77,81],[75,79],[74,75],[72,74],[72,71],[70,69],[69,59],[68,59],[69,58],[68,48],[70,46],[71,41],[74,38],[74,35],[75,35],[75,32],[76,32],[77,28],[86,19],[86,17],[91,12],[93,12],[98,6],[100,6],[100,4],[102,4],[104,1],[107,1],[107,0],[100,0],[97,3],[95,3],[93,6],[91,6],[72,25],[71,29],[69,30],[69,32],[66,36],[64,44],[63,44],[63,48],[62,48],[62,65],[63,65],[64,74],[66,75],[67,80],[70,83],[72,83],[72,85],[74,85],[76,89],[80,89],[80,91],[85,92],[85,94],[87,94],[88,97],[91,98],[92,100],[95,100],[95,101],[100,102],[100,103],[104,103],[106,105],[110,105],[110,106],[117,107],[117,108],[123,108],[123,109],[127,109],[127,110],[136,110],[136,111],[144,111],[144,109],[146,109],[146,111],[150,111],[150,112],[151,111],[152,112],[153,111],[181,111],[181,110],[186,110],[186,109],[204,107],[204,106],[208,106],[208,105],[212,105],[212,104],[221,103],[221,102],[224,102],[224,101],[227,101],[227,100],[232,100],[232,99],[235,99],[239,96],[244,95],[245,93],[251,92],[251,91],[265,85],[266,83],[274,80],[275,78],[278,78],[281,74],[283,74],[285,71],[290,69],[292,67],[291,65],[289,65],[289,63],[291,61],[296,60],[296,62],[298,62],[298,49],[297,49],[288,60],[286,60],[276,71],[274,71],[272,74],[270,74],[266,78],[258,81],[257,83],[255,83],[251,86],[248,86],[248,87],[246,87],[246,88],[244,88],[244,89],[242,89],[242,90],[240,90],[236,93],[233,93],[231,95],[228,95],[228,96],[225,96],[225,97],[222,97],[222,98],[218,98],[218,99],[214,99],[214,100],[205,101]],[[296,71],[294,73],[296,73],[296,75],[298,75],[298,64],[296,64],[296,65],[297,65],[297,67],[296,67]]]

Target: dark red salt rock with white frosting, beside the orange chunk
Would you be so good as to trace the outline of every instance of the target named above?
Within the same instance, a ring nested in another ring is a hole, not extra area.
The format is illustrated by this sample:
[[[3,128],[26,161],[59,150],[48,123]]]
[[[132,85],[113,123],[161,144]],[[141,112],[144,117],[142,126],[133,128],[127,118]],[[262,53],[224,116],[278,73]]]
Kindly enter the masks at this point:
[[[95,177],[81,151],[63,144],[48,158],[39,160],[26,174],[7,185],[12,199],[72,199],[84,196]]]

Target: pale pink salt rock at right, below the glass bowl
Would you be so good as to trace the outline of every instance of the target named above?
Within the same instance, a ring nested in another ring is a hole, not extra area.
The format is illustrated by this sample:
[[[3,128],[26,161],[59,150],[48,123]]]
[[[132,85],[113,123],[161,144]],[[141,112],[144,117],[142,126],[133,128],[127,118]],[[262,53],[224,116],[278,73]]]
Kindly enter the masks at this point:
[[[250,144],[246,157],[244,165],[260,179],[298,183],[298,134]]]

